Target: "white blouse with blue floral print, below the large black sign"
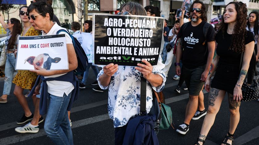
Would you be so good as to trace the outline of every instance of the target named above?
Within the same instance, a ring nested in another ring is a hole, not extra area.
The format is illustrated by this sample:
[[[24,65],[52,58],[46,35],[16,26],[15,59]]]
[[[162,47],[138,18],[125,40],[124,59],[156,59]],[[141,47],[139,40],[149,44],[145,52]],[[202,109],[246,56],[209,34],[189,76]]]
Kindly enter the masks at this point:
[[[159,55],[157,65],[153,66],[152,72],[162,77],[161,86],[153,87],[149,82],[146,85],[146,111],[149,113],[152,107],[152,88],[160,92],[165,86],[166,76],[163,72],[165,65]],[[101,89],[109,88],[108,112],[113,119],[114,127],[126,125],[130,118],[135,117],[140,111],[140,72],[134,66],[119,66],[117,72],[111,77],[109,86],[100,84],[99,77],[103,74],[103,69],[98,74],[97,80]]]

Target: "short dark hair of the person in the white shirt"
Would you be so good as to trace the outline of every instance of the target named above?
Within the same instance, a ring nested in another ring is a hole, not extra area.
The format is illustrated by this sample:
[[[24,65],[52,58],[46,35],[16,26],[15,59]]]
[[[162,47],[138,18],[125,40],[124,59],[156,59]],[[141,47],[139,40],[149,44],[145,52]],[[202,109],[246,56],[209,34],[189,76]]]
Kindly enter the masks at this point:
[[[27,11],[31,13],[33,10],[35,10],[37,13],[42,13],[43,17],[46,17],[46,14],[49,14],[50,20],[53,20],[53,8],[51,5],[47,4],[44,1],[39,1],[39,2],[33,2],[28,6]]]

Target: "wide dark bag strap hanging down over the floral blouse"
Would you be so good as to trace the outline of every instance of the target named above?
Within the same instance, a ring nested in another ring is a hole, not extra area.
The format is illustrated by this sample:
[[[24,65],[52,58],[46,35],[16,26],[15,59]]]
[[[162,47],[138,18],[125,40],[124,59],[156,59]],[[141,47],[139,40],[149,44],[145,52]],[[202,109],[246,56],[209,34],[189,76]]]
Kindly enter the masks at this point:
[[[140,75],[140,111],[139,115],[146,115],[146,79],[143,74]]]

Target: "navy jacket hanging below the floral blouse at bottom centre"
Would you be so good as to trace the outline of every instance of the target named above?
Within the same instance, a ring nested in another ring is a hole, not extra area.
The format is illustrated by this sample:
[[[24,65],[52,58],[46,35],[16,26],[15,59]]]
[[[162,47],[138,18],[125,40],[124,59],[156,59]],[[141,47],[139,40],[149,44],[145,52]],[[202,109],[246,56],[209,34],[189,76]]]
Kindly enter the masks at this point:
[[[123,139],[123,145],[158,145],[154,131],[155,115],[137,116],[130,119]]]

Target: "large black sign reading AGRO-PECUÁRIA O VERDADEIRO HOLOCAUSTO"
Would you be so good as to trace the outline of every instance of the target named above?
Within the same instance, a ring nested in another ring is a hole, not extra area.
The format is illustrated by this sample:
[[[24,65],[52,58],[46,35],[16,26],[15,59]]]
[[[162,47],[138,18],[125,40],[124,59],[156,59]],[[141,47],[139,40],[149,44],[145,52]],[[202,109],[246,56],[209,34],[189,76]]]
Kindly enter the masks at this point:
[[[94,64],[156,65],[161,49],[161,17],[94,14]]]

